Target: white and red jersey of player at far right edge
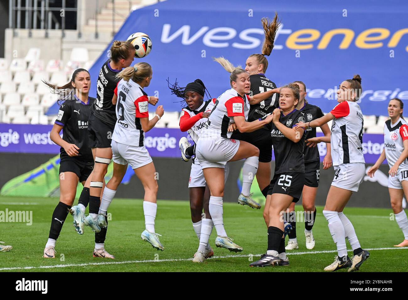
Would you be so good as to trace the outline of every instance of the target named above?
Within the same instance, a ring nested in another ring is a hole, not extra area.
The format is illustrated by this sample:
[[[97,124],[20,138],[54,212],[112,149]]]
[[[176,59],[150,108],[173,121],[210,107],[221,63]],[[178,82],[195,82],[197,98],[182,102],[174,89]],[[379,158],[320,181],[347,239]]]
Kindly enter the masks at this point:
[[[384,150],[390,168],[395,165],[402,151],[404,151],[404,141],[408,139],[408,125],[401,117],[395,124],[387,120],[384,124]],[[405,160],[399,165],[400,170],[408,170],[408,161]]]

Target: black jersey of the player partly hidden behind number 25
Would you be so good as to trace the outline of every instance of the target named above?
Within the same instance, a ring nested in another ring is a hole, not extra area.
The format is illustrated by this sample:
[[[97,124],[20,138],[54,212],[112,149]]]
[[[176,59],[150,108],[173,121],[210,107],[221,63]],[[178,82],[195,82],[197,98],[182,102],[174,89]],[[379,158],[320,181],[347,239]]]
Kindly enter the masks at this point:
[[[309,122],[309,121],[312,121],[312,120],[315,120],[315,119],[318,119],[324,116],[319,106],[308,104],[306,102],[303,108],[299,109],[299,112],[303,114],[302,116],[304,117],[305,122]],[[315,127],[308,128],[306,132],[304,133],[304,135],[305,135],[305,140],[310,139],[312,137],[316,137],[316,128]],[[310,148],[306,146],[305,144],[304,149],[303,149],[303,154],[304,154],[305,163],[308,163],[310,161],[320,161],[319,150],[317,147]]]

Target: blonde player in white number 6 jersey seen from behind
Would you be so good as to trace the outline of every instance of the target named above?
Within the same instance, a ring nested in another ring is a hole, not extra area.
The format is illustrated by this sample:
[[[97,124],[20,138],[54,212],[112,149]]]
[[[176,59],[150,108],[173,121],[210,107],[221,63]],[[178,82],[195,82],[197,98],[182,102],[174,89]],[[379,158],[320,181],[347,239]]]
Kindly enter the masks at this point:
[[[151,130],[164,114],[163,106],[158,106],[156,115],[149,120],[149,98],[144,88],[150,85],[153,71],[146,62],[127,67],[116,75],[120,79],[114,90],[112,103],[116,104],[117,121],[112,135],[113,175],[106,183],[99,209],[105,215],[115,196],[118,186],[126,173],[128,164],[143,184],[143,211],[146,229],[141,238],[153,248],[164,250],[160,243],[160,234],[155,232],[157,211],[156,170],[149,152],[144,147],[144,133]],[[104,224],[101,224],[102,226]]]

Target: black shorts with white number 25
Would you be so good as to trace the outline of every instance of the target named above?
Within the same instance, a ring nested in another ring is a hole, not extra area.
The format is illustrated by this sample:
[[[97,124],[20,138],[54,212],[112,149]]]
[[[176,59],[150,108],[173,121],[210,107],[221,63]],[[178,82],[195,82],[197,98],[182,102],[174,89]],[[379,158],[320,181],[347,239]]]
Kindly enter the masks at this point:
[[[292,202],[299,201],[305,181],[304,173],[275,174],[269,185],[268,195],[285,194],[293,197]]]

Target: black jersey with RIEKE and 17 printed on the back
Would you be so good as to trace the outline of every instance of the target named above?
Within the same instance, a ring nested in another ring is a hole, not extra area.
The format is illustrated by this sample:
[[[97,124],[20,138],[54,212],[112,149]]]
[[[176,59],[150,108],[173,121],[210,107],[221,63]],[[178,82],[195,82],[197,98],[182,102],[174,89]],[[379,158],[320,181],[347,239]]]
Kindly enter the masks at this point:
[[[249,80],[251,81],[251,95],[257,95],[276,88],[276,84],[266,78],[264,74],[251,75],[249,76]],[[248,113],[248,122],[255,121],[266,116],[268,113],[272,113],[273,110],[277,108],[278,103],[279,94],[276,93],[258,104],[251,105]],[[266,124],[265,127],[271,130],[272,123]]]

